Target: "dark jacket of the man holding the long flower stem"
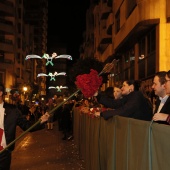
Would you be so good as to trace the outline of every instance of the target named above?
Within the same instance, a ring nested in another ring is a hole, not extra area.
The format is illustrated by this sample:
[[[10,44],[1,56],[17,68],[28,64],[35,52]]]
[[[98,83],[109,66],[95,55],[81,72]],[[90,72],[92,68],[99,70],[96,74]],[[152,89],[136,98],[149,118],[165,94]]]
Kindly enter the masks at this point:
[[[22,116],[21,111],[12,104],[4,103],[5,115],[4,115],[4,131],[7,145],[15,140],[16,126],[19,126],[22,130],[27,130],[32,126],[32,123],[28,121],[25,116]],[[41,129],[43,126],[35,127],[31,131]],[[11,145],[8,150],[13,151],[15,145]]]

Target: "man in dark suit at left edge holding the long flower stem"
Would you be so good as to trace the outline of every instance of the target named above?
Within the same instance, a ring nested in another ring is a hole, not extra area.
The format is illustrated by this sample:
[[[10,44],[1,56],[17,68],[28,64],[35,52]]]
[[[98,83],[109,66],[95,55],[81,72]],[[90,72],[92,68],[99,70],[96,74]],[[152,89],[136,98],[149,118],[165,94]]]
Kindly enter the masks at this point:
[[[22,116],[20,110],[15,105],[3,101],[4,93],[5,88],[0,83],[0,170],[9,170],[11,152],[14,150],[15,145],[7,146],[15,140],[16,126],[19,126],[22,130],[27,130],[32,126],[32,123]],[[48,117],[48,113],[44,114],[40,118],[41,123],[46,122]],[[40,129],[40,126],[36,126],[32,131]]]

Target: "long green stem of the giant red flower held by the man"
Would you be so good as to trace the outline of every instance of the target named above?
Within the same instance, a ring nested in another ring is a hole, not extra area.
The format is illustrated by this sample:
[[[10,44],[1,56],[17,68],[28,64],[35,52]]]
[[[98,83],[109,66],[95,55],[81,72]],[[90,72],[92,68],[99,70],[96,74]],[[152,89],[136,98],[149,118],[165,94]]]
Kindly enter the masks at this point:
[[[50,110],[48,113],[52,114],[55,110],[57,110],[60,106],[62,106],[66,101],[71,99],[74,95],[76,95],[80,89],[72,93],[65,101],[58,104],[56,107],[54,107],[52,110]],[[6,149],[8,149],[11,145],[13,145],[17,140],[19,140],[22,136],[24,136],[27,132],[29,132],[31,129],[33,129],[35,126],[37,126],[41,122],[41,119],[35,122],[30,128],[28,128],[26,131],[24,131],[21,135],[19,135],[15,140],[13,140],[11,143],[9,143],[3,150],[0,151],[0,154],[4,152]]]

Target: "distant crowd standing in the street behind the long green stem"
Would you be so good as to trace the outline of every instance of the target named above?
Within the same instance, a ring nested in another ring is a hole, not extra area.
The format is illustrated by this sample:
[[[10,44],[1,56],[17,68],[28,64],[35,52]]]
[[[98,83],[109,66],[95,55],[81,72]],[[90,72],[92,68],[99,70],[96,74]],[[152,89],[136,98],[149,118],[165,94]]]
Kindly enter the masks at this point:
[[[55,109],[59,104],[64,101],[63,96],[54,95],[48,98],[47,102],[41,103],[31,103],[29,106],[19,104],[17,107],[22,112],[22,115],[26,117],[32,123],[36,123],[39,118],[45,113],[50,113],[47,120],[46,128],[47,130],[52,130],[54,122],[58,122],[58,129],[63,132],[63,140],[70,138],[73,131],[73,112],[72,108],[74,105],[74,100],[68,100],[63,103],[60,107]]]

